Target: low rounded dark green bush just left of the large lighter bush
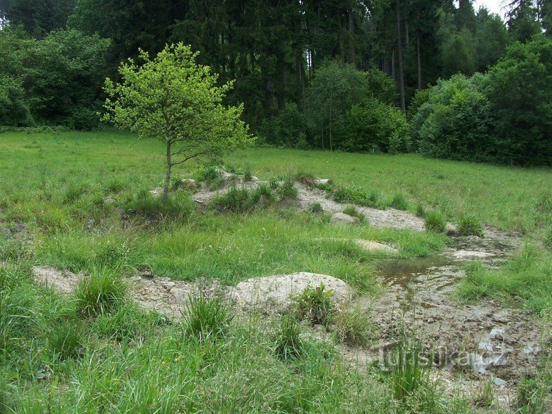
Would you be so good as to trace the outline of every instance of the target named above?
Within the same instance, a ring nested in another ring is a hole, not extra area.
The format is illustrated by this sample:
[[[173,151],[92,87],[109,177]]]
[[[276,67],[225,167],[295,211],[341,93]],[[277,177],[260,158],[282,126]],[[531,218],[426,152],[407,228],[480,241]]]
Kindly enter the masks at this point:
[[[410,148],[404,113],[377,99],[354,105],[337,130],[336,146],[345,151],[397,153]]]

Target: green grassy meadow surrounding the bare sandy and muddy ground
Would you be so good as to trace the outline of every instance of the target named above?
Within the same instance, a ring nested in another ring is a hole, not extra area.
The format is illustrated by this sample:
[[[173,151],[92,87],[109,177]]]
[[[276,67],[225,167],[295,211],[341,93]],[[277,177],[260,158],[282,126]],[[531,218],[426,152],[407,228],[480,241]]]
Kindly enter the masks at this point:
[[[0,226],[23,223],[26,233],[0,235],[0,413],[473,411],[461,395],[445,401],[429,386],[389,398],[397,380],[392,373],[351,370],[333,342],[291,340],[295,328],[284,323],[244,324],[221,313],[213,322],[220,326],[217,335],[204,340],[189,335],[190,320],[175,323],[145,313],[123,290],[101,287],[106,277],[148,266],[156,275],[228,285],[309,271],[377,295],[382,253],[315,239],[391,242],[402,257],[423,257],[443,250],[446,236],[369,223],[328,226],[324,214],[272,207],[219,214],[197,208],[184,191],[161,206],[148,191],[163,181],[163,145],[114,130],[6,132],[0,151]],[[250,169],[261,179],[309,172],[377,193],[384,205],[398,195],[412,212],[423,206],[453,222],[471,213],[519,231],[527,244],[520,257],[498,270],[472,265],[459,295],[522,295],[542,315],[552,305],[549,169],[275,148],[250,148],[225,165]],[[197,168],[184,164],[174,172],[193,177]],[[86,306],[98,298],[94,286],[81,286],[70,298],[37,286],[34,264],[92,275],[97,290],[107,294],[105,308]],[[282,357],[282,344],[293,344],[295,357]]]

